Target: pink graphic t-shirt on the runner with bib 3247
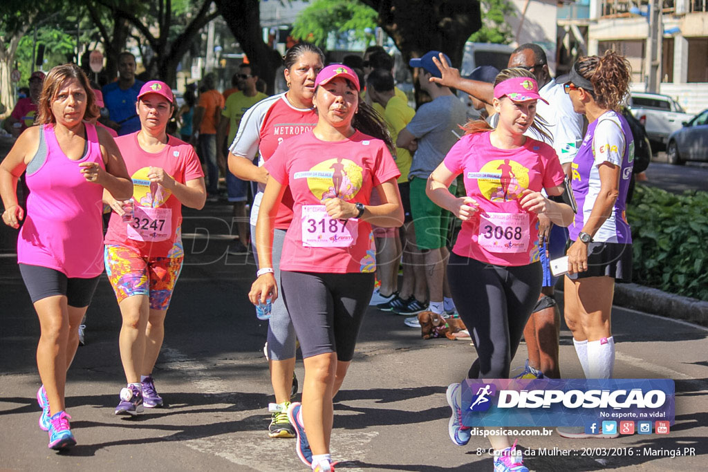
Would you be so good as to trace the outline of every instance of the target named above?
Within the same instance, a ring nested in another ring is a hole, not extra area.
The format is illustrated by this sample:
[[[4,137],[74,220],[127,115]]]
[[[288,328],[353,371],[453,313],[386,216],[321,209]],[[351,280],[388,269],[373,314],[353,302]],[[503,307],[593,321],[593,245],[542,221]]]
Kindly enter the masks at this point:
[[[115,139],[133,181],[134,212],[130,222],[110,215],[106,244],[118,244],[137,249],[148,258],[169,257],[182,224],[182,202],[172,192],[148,178],[150,167],[163,168],[178,183],[204,176],[193,146],[169,136],[159,152],[149,153],[137,142],[139,132]]]

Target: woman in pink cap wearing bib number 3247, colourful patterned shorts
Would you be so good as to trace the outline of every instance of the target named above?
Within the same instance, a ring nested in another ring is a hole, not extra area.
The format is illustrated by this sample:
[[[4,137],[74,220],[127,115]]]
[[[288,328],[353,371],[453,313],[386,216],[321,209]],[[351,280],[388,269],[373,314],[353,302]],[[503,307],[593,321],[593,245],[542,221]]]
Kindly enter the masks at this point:
[[[194,148],[166,134],[173,100],[164,82],[142,86],[135,104],[141,129],[115,140],[126,156],[132,199],[104,195],[113,208],[104,241],[105,272],[122,315],[118,343],[127,380],[116,415],[162,406],[152,369],[184,258],[182,205],[201,209],[207,196]]]

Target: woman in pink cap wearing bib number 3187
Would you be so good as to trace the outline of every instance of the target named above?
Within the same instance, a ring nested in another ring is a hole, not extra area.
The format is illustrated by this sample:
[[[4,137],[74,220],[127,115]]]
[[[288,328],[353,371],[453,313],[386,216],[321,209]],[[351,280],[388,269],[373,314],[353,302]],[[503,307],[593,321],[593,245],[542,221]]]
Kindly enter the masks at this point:
[[[293,217],[280,257],[280,286],[305,379],[302,405],[291,403],[287,415],[295,425],[299,458],[325,472],[332,470],[332,397],[354,355],[374,289],[371,224],[401,226],[404,215],[391,139],[359,98],[357,75],[332,64],[317,74],[314,87],[317,124],[282,142],[265,163],[270,178],[256,225],[261,269],[249,298],[257,304],[279,296],[271,248],[278,205],[289,190]],[[380,205],[369,205],[372,192]]]

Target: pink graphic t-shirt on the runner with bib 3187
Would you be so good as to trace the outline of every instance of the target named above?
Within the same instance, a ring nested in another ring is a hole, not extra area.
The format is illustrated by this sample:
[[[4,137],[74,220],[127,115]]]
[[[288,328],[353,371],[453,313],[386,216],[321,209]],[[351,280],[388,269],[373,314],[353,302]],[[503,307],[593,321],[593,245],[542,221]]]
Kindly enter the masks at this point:
[[[374,272],[371,225],[330,219],[325,200],[339,197],[368,205],[375,187],[401,175],[384,142],[355,132],[324,142],[307,132],[286,139],[265,162],[270,177],[288,185],[294,205],[280,269],[303,272]]]

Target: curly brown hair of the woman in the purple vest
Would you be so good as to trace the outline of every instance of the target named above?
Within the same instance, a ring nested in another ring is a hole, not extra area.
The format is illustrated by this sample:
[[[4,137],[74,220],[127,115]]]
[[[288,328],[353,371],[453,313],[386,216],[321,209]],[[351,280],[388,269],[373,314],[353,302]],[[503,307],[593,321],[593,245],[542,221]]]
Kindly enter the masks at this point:
[[[576,70],[593,84],[593,98],[600,108],[619,111],[629,90],[632,69],[629,61],[612,50],[603,57],[588,56],[578,59]]]

